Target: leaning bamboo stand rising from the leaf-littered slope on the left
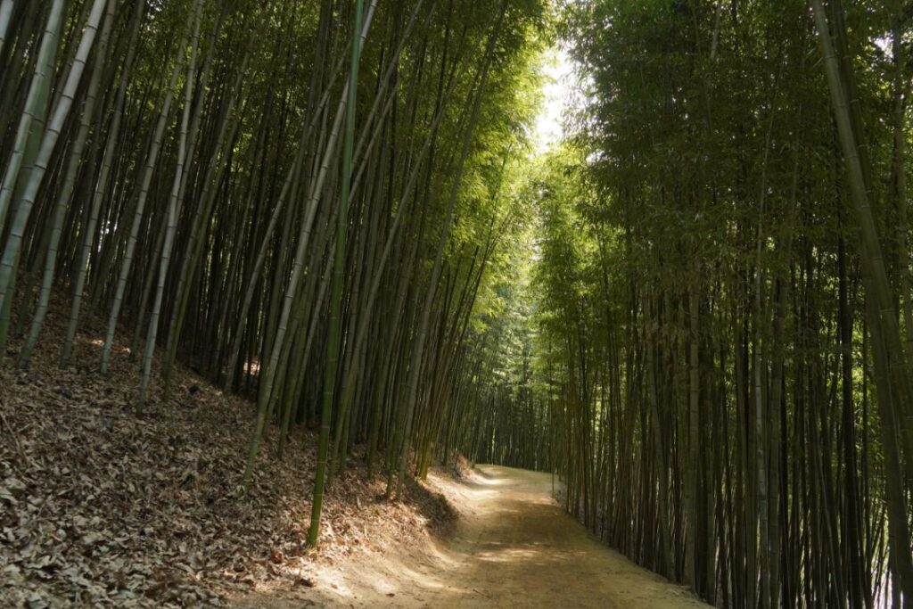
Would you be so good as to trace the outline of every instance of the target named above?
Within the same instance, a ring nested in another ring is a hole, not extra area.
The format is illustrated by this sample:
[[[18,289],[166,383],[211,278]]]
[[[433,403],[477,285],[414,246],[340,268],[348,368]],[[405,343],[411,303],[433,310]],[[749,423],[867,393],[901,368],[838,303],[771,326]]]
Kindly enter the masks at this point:
[[[22,368],[43,344],[62,366],[129,360],[140,414],[176,361],[251,396],[242,495],[319,426],[311,542],[353,446],[399,495],[438,438],[472,431],[456,380],[516,223],[498,191],[547,17],[536,0],[0,0],[0,348]]]

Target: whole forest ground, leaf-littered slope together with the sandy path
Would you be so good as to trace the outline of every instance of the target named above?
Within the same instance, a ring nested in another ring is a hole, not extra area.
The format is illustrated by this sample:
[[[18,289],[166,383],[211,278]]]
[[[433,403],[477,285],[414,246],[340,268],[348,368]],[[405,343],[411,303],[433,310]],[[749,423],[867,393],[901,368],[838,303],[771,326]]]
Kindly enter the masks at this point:
[[[66,317],[48,316],[28,370],[0,362],[0,606],[697,607],[684,589],[590,537],[548,475],[432,471],[404,501],[352,458],[305,546],[316,436],[264,439],[237,497],[253,406],[179,368],[137,414],[137,363],[87,321],[57,365]]]

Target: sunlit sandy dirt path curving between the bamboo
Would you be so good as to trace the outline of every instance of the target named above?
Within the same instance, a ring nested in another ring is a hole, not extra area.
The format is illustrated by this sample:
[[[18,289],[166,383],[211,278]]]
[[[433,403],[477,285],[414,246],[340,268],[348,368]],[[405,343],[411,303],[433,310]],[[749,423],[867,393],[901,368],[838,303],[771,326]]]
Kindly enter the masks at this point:
[[[247,607],[707,607],[603,547],[551,499],[551,477],[480,466],[455,483],[436,478],[460,511],[448,541],[352,557],[317,574],[317,587]]]

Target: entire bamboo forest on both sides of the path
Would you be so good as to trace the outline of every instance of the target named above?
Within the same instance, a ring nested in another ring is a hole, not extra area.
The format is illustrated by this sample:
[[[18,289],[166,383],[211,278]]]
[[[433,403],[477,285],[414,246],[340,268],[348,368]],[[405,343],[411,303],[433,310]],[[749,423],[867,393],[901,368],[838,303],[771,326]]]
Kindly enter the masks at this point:
[[[463,454],[712,604],[913,606],[911,19],[0,0],[0,353],[246,395],[239,500],[319,429],[312,543],[356,447],[388,497]]]

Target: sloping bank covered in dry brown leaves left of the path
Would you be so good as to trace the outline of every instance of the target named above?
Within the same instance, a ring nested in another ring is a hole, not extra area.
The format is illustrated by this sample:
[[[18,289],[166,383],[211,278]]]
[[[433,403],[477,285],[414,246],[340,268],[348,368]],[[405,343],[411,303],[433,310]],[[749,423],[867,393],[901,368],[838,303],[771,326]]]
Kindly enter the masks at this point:
[[[451,526],[446,499],[420,483],[384,500],[356,455],[308,549],[315,433],[297,429],[278,457],[270,430],[238,499],[253,404],[179,368],[172,395],[154,386],[137,414],[126,344],[102,376],[103,327],[89,319],[60,369],[65,322],[48,314],[28,370],[16,368],[18,341],[0,358],[0,607],[226,606],[273,584],[323,585],[313,572]]]

